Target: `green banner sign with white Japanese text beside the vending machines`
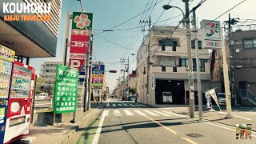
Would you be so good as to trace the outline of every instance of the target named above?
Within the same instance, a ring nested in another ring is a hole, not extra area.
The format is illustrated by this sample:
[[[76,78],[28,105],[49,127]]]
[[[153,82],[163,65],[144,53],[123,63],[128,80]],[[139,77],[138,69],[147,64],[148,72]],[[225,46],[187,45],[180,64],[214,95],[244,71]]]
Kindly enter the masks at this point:
[[[54,114],[77,110],[78,69],[58,65],[54,91]]]

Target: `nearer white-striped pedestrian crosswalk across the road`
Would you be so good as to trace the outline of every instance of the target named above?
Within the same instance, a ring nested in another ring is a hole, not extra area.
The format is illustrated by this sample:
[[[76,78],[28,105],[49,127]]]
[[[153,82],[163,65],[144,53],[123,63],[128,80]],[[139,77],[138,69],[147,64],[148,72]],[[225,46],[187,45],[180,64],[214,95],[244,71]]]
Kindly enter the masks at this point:
[[[182,117],[182,118],[189,118],[186,115],[176,114],[171,111],[166,110],[104,110],[102,115],[105,114],[106,116],[114,115],[114,116],[166,116],[166,117]]]

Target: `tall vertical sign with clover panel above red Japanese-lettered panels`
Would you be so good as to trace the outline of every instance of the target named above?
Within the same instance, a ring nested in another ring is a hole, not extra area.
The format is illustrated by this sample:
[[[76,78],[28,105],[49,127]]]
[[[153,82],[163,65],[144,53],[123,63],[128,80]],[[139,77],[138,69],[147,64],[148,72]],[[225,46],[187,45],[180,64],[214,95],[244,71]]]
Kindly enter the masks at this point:
[[[77,68],[79,75],[85,75],[86,53],[92,29],[93,14],[74,12],[70,40],[70,66]],[[84,78],[84,77],[81,77]]]

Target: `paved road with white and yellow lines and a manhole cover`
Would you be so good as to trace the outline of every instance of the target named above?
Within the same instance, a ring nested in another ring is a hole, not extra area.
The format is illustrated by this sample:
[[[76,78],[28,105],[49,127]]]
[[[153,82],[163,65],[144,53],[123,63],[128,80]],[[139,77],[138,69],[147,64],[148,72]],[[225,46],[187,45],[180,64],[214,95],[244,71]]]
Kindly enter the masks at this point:
[[[237,140],[233,126],[115,99],[106,102],[78,143],[256,143],[252,136]]]

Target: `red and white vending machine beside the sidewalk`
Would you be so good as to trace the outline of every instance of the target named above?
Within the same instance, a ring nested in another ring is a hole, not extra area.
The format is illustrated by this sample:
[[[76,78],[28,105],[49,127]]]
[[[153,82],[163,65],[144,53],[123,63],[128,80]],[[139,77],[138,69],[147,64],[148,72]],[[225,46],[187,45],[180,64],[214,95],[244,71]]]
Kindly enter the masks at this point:
[[[33,67],[14,61],[4,143],[14,142],[29,134],[34,78]]]

